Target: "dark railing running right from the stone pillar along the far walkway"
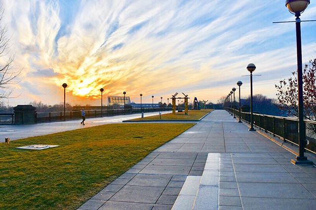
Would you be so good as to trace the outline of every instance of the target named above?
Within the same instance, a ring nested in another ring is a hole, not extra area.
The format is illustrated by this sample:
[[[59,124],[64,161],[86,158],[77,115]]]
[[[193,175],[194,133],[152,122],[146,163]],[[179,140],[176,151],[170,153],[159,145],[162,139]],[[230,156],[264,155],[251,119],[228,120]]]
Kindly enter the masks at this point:
[[[143,112],[156,112],[156,111],[169,111],[172,108],[126,108],[126,109],[104,109],[102,110],[85,110],[85,117],[101,117],[101,116],[114,116],[114,115],[123,115],[123,114],[135,114]],[[57,112],[37,112],[36,113],[36,122],[53,122],[53,121],[62,121],[62,120],[71,120],[71,119],[80,119],[81,111],[66,111],[65,116],[63,111]]]

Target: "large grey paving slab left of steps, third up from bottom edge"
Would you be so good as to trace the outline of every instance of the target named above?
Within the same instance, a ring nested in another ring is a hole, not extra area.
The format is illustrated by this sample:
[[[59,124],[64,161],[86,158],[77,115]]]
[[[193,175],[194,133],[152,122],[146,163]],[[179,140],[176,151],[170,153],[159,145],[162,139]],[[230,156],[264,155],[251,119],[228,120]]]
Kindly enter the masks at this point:
[[[165,187],[172,175],[145,175],[138,174],[127,185]]]

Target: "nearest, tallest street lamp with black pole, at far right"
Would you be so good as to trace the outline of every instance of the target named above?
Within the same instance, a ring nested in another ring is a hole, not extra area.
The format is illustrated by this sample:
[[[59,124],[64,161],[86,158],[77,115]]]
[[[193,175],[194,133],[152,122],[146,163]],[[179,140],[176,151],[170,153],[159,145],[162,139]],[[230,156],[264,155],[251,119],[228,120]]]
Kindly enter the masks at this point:
[[[302,38],[301,38],[301,13],[311,3],[310,0],[286,0],[285,6],[288,10],[295,14],[296,17],[296,49],[297,49],[297,84],[298,84],[298,127],[299,127],[299,156],[295,157],[295,160],[291,160],[293,164],[312,164],[304,156],[305,148],[305,122],[304,122],[304,107],[303,107],[303,67],[302,67]]]

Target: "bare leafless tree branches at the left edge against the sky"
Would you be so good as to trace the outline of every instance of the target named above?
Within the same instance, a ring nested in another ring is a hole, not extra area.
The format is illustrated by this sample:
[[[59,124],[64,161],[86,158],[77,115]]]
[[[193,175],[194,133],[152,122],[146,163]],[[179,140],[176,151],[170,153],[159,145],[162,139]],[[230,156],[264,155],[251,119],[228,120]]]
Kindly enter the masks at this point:
[[[4,99],[14,98],[11,96],[13,84],[17,84],[17,77],[20,75],[22,69],[13,70],[14,54],[10,54],[9,42],[10,38],[7,36],[7,28],[3,25],[4,9],[0,7],[0,103]]]

